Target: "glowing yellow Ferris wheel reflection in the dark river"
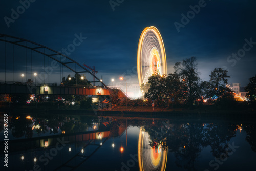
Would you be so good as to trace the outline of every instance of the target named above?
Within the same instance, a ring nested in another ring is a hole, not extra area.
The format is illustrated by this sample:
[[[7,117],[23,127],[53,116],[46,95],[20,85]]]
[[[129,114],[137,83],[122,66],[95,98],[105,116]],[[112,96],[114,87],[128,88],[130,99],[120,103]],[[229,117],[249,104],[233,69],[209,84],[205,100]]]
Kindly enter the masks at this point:
[[[144,134],[143,134],[144,132]],[[161,144],[156,144],[152,148],[149,144],[151,141],[147,132],[140,129],[138,142],[138,162],[139,170],[161,170],[164,171],[167,163],[167,149],[163,149]]]

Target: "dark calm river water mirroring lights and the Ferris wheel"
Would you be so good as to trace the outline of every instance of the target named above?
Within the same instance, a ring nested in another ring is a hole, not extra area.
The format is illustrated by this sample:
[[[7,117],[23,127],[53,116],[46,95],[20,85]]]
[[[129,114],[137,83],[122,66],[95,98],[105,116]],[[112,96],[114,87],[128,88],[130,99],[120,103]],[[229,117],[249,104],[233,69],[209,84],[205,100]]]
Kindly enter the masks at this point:
[[[8,153],[3,121],[1,170],[256,170],[253,120],[8,114]]]

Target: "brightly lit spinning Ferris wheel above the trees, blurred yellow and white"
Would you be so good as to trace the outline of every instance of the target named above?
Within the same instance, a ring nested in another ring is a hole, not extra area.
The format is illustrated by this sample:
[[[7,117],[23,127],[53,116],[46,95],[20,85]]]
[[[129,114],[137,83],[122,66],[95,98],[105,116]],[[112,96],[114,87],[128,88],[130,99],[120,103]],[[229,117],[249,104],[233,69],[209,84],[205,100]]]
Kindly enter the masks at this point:
[[[166,55],[161,34],[156,27],[146,27],[140,36],[137,53],[139,84],[154,74],[166,75]]]

